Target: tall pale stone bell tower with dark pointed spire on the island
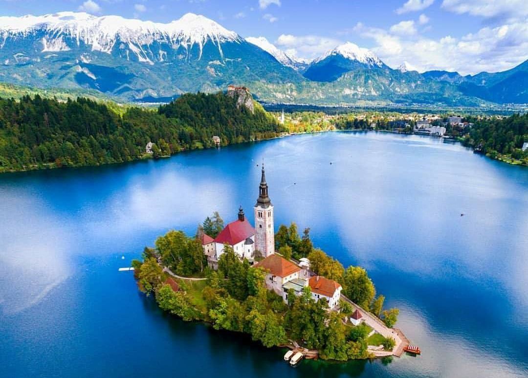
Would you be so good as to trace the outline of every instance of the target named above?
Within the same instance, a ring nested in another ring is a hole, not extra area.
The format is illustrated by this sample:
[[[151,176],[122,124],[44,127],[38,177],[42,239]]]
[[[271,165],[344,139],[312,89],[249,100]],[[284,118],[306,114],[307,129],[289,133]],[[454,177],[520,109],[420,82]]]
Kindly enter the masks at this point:
[[[255,205],[255,248],[268,257],[275,253],[275,229],[273,225],[273,205],[268,196],[268,184],[262,163],[259,197]]]

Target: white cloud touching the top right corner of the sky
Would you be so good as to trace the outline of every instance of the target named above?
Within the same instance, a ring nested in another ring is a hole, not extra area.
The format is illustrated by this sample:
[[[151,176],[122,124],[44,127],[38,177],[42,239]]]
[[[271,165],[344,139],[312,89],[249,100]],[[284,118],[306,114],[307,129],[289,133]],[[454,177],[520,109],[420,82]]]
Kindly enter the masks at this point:
[[[528,1],[526,0],[444,0],[442,8],[458,14],[467,13],[486,18],[520,19],[528,16]]]

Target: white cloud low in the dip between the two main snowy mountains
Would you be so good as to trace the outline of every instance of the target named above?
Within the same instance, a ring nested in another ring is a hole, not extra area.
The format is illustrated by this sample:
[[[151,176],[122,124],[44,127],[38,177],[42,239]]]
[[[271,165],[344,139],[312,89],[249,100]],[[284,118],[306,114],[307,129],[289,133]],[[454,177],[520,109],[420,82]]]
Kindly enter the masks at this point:
[[[319,35],[281,34],[275,43],[289,56],[314,59],[343,42]]]

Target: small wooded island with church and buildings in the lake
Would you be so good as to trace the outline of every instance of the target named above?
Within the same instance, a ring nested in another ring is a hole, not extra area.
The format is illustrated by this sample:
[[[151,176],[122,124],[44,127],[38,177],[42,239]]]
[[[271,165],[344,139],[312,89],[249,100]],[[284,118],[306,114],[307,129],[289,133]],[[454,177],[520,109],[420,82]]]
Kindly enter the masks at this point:
[[[139,290],[184,320],[305,358],[391,358],[409,349],[393,328],[399,310],[383,309],[365,269],[345,269],[314,248],[309,229],[300,237],[295,223],[275,234],[263,164],[253,213],[254,227],[239,207],[225,226],[215,212],[192,237],[174,230],[159,237],[132,263]]]

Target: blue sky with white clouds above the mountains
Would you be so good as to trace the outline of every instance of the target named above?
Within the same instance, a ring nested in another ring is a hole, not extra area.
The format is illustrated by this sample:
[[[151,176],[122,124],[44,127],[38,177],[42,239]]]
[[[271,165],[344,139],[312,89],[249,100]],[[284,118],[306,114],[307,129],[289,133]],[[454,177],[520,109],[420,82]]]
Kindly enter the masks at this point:
[[[0,0],[0,15],[59,11],[155,22],[193,12],[299,58],[350,41],[420,72],[497,72],[528,59],[528,0]]]

